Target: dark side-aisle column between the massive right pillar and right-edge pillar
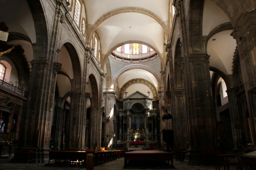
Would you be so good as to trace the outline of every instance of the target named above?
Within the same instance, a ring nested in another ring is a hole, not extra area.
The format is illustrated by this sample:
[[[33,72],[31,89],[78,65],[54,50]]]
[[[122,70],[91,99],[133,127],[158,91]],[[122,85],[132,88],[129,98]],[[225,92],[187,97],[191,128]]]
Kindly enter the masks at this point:
[[[242,143],[242,127],[244,126],[243,119],[241,119],[241,113],[239,111],[239,104],[236,93],[239,91],[239,87],[230,88],[226,92],[229,99],[229,110],[231,118],[231,127],[233,134],[234,149],[237,149],[237,142]]]

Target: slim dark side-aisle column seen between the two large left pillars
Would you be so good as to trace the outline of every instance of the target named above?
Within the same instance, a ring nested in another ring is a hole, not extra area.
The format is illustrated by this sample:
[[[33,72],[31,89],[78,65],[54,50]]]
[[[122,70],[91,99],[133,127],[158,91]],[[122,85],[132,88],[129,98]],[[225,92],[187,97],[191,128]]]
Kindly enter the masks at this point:
[[[53,129],[53,141],[54,141],[55,150],[60,150],[60,146],[61,146],[61,131],[62,131],[62,123],[63,123],[62,120],[63,120],[63,108],[59,106],[55,106],[54,129]]]

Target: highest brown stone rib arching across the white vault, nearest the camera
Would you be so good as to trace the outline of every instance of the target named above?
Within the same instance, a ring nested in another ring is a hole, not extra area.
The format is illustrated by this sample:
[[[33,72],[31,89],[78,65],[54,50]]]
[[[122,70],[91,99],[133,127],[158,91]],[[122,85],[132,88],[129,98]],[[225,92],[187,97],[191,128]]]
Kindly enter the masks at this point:
[[[145,14],[145,15],[153,18],[154,20],[156,20],[162,26],[163,31],[168,36],[167,39],[169,39],[168,28],[166,27],[164,21],[162,21],[162,19],[159,18],[156,14],[154,14],[153,12],[151,12],[149,10],[143,9],[143,8],[123,7],[123,8],[118,8],[118,9],[114,9],[112,11],[107,12],[106,14],[102,15],[97,21],[95,21],[95,23],[91,27],[90,31],[88,32],[86,41],[90,42],[90,40],[93,37],[94,32],[96,31],[96,29],[100,26],[100,24],[103,21],[107,20],[108,18],[110,18],[110,17],[112,17],[114,15],[118,15],[118,14],[122,14],[122,13],[127,13],[127,12],[141,13],[141,14]]]

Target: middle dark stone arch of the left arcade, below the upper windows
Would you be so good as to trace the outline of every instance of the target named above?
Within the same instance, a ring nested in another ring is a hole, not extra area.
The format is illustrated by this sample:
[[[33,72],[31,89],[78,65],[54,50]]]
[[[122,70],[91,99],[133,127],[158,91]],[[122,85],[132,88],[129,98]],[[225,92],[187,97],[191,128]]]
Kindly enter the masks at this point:
[[[81,71],[81,64],[80,59],[77,53],[77,50],[75,49],[75,46],[71,42],[65,42],[63,46],[67,49],[71,64],[73,67],[73,83],[72,84],[72,91],[80,90],[82,87],[82,71]],[[62,47],[62,46],[60,46]]]

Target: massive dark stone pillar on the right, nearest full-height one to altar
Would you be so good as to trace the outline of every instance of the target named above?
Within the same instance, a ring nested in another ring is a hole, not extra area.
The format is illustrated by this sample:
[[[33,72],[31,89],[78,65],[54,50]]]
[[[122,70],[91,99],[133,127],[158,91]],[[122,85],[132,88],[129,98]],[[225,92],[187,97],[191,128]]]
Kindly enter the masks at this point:
[[[191,146],[185,156],[184,163],[200,164],[201,149],[214,147],[213,129],[214,121],[213,98],[211,94],[211,77],[209,69],[209,56],[207,54],[190,54],[189,65],[185,61],[188,103],[188,124],[190,128]],[[189,88],[188,88],[189,86]]]

